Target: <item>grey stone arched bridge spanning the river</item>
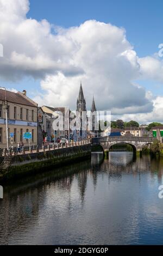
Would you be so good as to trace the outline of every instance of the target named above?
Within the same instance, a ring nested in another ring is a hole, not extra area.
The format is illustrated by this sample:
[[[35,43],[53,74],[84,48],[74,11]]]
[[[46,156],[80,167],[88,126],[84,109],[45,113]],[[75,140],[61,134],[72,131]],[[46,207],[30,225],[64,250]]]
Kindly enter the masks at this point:
[[[141,151],[146,145],[149,147],[150,144],[154,142],[155,138],[153,137],[99,137],[92,138],[93,145],[101,145],[104,151],[109,150],[112,145],[115,144],[129,144],[134,151]]]

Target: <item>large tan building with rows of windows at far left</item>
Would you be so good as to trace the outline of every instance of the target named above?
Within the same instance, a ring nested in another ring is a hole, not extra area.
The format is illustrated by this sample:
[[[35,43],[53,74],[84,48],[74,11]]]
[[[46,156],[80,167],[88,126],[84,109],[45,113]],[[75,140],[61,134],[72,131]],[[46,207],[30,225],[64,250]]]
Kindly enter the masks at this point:
[[[13,133],[14,147],[18,142],[28,145],[28,140],[23,139],[24,132],[32,133],[31,145],[37,144],[37,103],[29,99],[26,94],[26,90],[22,93],[7,91],[9,146],[11,146],[11,133]],[[7,147],[5,90],[0,89],[0,148],[4,147]]]

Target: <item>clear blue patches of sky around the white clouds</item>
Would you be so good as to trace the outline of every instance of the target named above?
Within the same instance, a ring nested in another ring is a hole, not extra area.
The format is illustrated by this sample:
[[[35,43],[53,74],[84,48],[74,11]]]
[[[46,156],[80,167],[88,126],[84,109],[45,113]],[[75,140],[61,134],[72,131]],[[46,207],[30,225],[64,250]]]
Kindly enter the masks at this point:
[[[163,41],[161,24],[163,24],[163,1],[148,0],[30,0],[28,18],[48,22],[65,28],[79,26],[86,20],[111,23],[126,29],[127,39],[134,46],[139,57],[158,52],[158,45]],[[24,78],[17,82],[17,89],[37,88],[40,81]],[[156,95],[163,94],[161,84],[153,88],[152,81],[139,81],[142,86],[151,89]],[[5,86],[15,87],[15,83],[3,81]],[[32,93],[30,93],[32,96]]]

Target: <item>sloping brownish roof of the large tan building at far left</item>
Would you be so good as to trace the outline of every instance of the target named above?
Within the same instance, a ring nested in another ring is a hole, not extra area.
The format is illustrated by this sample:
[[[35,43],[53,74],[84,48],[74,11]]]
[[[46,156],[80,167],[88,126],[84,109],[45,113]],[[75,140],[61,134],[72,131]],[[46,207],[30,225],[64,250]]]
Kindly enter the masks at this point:
[[[5,90],[0,89],[0,100],[5,100]],[[21,105],[27,105],[31,107],[36,107],[34,103],[27,99],[26,96],[21,95],[20,93],[14,93],[7,90],[7,101],[12,103],[17,103]]]

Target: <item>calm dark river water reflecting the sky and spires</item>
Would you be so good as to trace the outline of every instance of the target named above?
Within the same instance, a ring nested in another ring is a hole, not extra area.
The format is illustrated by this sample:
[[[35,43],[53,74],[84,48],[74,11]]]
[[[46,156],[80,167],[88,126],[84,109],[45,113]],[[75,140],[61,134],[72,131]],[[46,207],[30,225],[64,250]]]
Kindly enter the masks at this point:
[[[163,244],[162,170],[162,160],[111,152],[5,185],[0,244]]]

